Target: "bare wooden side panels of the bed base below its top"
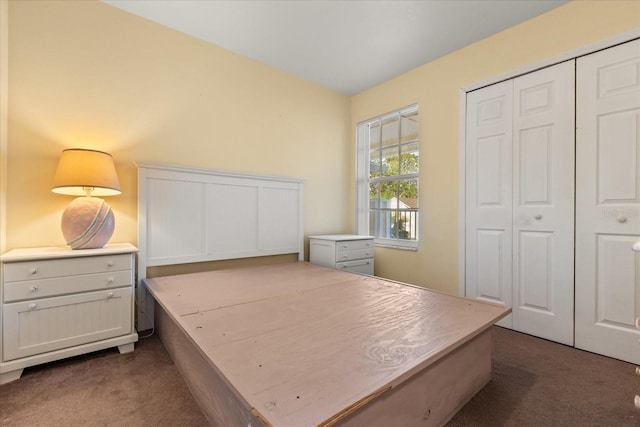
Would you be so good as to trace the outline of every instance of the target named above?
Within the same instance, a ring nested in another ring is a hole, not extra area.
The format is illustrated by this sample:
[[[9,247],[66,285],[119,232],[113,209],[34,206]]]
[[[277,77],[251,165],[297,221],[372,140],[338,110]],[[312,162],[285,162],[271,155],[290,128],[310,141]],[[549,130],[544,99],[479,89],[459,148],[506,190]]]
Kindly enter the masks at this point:
[[[202,350],[155,307],[156,332],[213,426],[271,426],[239,396]],[[401,385],[346,408],[321,426],[442,426],[491,378],[491,328]]]

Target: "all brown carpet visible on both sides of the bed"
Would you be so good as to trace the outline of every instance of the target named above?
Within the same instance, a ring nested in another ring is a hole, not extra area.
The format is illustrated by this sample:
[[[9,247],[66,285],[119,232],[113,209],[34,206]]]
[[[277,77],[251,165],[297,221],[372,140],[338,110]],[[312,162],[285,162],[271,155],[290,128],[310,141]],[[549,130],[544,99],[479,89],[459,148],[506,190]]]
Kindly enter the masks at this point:
[[[640,351],[640,344],[638,345]],[[640,426],[640,377],[625,362],[494,327],[493,377],[448,424]],[[0,386],[2,426],[205,426],[156,336],[25,369]],[[402,426],[400,426],[402,427]]]

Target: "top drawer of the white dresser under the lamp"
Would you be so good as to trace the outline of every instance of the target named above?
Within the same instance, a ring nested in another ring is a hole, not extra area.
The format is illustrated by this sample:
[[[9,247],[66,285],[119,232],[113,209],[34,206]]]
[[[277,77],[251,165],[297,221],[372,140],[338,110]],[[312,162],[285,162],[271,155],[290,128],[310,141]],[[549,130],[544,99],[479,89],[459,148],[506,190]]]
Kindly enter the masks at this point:
[[[69,259],[48,259],[4,264],[4,282],[47,279],[69,275],[131,270],[131,255],[102,255]]]

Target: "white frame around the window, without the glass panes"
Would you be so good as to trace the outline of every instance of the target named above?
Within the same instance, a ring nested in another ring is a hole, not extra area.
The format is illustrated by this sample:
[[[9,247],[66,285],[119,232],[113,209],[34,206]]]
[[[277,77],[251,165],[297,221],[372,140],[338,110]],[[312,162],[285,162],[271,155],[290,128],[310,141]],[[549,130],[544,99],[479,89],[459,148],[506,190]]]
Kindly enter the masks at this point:
[[[356,124],[356,229],[360,235],[369,235],[369,125],[386,118],[418,111],[418,104],[373,117]],[[418,173],[403,175],[402,179],[419,179]],[[420,184],[418,182],[418,188]],[[418,250],[420,242],[420,199],[418,198],[418,232],[415,240],[388,239],[374,236],[376,246]]]

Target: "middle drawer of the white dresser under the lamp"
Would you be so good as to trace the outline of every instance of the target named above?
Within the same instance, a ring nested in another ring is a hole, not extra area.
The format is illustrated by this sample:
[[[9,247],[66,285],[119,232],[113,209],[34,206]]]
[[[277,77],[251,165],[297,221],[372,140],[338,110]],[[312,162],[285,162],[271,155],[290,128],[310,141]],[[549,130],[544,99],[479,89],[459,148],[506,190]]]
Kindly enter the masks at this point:
[[[8,282],[4,285],[4,302],[120,288],[132,284],[131,270]]]

